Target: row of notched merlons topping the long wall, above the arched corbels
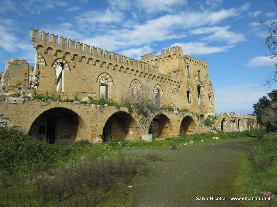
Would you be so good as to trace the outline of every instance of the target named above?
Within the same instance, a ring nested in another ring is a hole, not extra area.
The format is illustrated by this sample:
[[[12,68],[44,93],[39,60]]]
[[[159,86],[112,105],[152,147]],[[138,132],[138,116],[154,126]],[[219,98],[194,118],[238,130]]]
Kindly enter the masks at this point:
[[[58,41],[59,39],[59,41]],[[130,67],[133,68],[135,71],[139,71],[139,73],[143,72],[144,74],[149,74],[149,76],[159,77],[166,80],[170,80],[170,84],[172,83],[180,83],[180,75],[178,74],[171,74],[166,75],[158,72],[158,68],[155,64],[149,64],[145,62],[141,62],[139,60],[132,59],[130,57],[126,57],[124,55],[119,55],[110,51],[106,51],[97,47],[93,47],[87,44],[83,44],[80,42],[75,42],[75,40],[67,39],[60,37],[58,35],[55,36],[54,34],[50,35],[49,41],[49,33],[44,31],[41,32],[41,38],[39,38],[39,30],[35,30],[31,28],[31,40],[33,42],[33,47],[37,48],[38,45],[41,45],[43,48],[43,53],[47,53],[47,48],[50,47],[54,49],[54,56],[56,55],[56,51],[62,51],[62,57],[65,56],[65,52],[67,51],[74,51],[75,55],[78,56],[76,60],[81,62],[81,57],[85,57],[86,60],[90,58],[93,60],[99,60],[104,62],[116,61],[117,65]],[[68,49],[67,49],[68,48]],[[88,63],[88,61],[87,61]],[[94,64],[94,62],[93,62]],[[179,86],[179,85],[178,85]]]

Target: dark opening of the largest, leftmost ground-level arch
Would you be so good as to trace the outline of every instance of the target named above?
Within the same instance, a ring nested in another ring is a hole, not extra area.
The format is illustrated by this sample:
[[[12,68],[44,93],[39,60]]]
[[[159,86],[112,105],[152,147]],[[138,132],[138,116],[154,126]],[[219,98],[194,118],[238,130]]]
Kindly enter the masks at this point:
[[[51,144],[72,144],[86,139],[87,127],[83,120],[68,108],[52,108],[40,114],[29,129],[30,136],[47,139]]]

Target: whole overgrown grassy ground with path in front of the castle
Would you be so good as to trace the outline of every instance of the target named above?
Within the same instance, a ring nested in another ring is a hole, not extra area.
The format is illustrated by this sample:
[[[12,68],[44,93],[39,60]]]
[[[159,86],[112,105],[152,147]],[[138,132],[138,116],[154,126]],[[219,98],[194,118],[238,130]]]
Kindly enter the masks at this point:
[[[184,146],[189,141],[193,147]],[[253,189],[258,189],[277,194],[276,135],[264,131],[59,146],[0,129],[0,142],[0,206],[122,207],[149,205],[147,201],[152,206],[163,204],[160,201],[170,202],[167,206],[207,206],[195,202],[196,193],[219,195],[223,189],[242,197],[257,196]],[[208,206],[217,205],[222,203]]]

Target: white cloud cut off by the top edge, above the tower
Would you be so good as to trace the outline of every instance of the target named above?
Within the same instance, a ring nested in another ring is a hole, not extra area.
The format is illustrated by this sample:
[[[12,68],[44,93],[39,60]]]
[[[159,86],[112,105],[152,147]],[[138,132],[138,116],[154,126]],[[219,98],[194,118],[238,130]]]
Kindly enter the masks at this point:
[[[179,5],[186,5],[186,0],[151,0],[151,1],[145,1],[145,0],[136,0],[136,6],[145,11],[146,13],[153,14],[158,13],[162,11],[167,12],[173,12],[173,7],[179,6]]]

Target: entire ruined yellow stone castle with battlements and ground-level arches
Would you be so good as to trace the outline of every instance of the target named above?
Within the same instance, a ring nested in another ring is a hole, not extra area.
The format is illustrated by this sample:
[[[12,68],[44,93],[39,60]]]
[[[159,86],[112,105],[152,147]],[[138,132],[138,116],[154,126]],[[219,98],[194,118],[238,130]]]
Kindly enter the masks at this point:
[[[255,116],[214,114],[214,90],[207,64],[181,47],[149,53],[141,61],[74,40],[31,29],[35,65],[11,59],[1,74],[0,124],[23,129],[25,133],[52,143],[71,144],[88,139],[92,143],[108,139],[140,140],[213,131],[243,131],[259,128]],[[124,106],[100,107],[94,99],[120,101],[122,93],[143,85],[158,97],[160,110],[141,124],[141,115],[129,114]],[[77,96],[73,103],[38,100],[32,93],[55,93],[61,98]],[[186,109],[187,112],[178,112]],[[203,122],[214,117],[212,127]],[[151,122],[158,123],[153,128]],[[214,128],[215,127],[215,128]]]

